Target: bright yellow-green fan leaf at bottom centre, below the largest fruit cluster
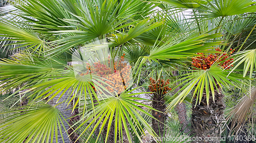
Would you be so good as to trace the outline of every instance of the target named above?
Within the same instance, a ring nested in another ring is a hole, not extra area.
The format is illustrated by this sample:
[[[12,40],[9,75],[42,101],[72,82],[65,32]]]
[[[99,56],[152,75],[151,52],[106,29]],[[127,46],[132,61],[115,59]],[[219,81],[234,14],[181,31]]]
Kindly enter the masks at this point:
[[[82,136],[83,133],[86,133],[87,130],[94,125],[90,135],[88,135],[86,142],[90,140],[90,137],[93,135],[97,127],[100,128],[99,135],[97,137],[97,139],[99,139],[104,126],[106,126],[107,127],[106,137],[105,137],[105,142],[106,142],[109,137],[112,122],[114,122],[115,124],[115,136],[114,136],[115,142],[117,142],[118,140],[117,135],[122,134],[121,133],[122,128],[124,128],[129,142],[132,142],[131,140],[132,136],[130,136],[128,125],[130,125],[134,134],[139,138],[141,142],[142,140],[139,134],[145,134],[143,128],[145,128],[153,137],[156,136],[156,134],[154,133],[150,125],[140,115],[140,112],[145,114],[146,116],[150,116],[151,118],[154,118],[154,117],[150,113],[138,107],[137,105],[144,106],[152,110],[155,110],[155,109],[150,106],[139,103],[137,101],[134,101],[134,99],[145,100],[145,99],[133,97],[137,93],[131,94],[131,92],[136,89],[133,89],[129,92],[124,92],[117,97],[110,97],[108,99],[102,100],[99,102],[98,105],[95,106],[94,111],[93,110],[88,111],[83,116],[83,118],[80,119],[79,122],[82,122],[82,124],[80,124],[76,129],[78,130],[80,127],[82,127],[83,125],[86,125],[86,123],[90,121],[86,128],[83,127],[84,130],[81,132],[80,136]],[[100,125],[100,123],[102,124]],[[138,123],[141,123],[141,124],[138,124]],[[121,141],[121,138],[119,139],[120,139],[119,141]]]

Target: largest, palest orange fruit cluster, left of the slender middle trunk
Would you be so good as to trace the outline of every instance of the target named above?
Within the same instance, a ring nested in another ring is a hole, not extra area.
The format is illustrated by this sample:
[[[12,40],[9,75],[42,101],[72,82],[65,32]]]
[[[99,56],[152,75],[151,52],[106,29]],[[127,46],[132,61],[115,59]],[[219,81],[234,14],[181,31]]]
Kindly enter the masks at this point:
[[[100,76],[99,83],[109,92],[114,93],[117,92],[117,94],[121,94],[127,87],[129,87],[129,80],[130,80],[130,71],[131,66],[127,65],[127,63],[124,63],[124,55],[121,56],[121,59],[114,63],[114,70],[112,70],[110,67],[110,55],[108,59],[109,65],[106,66],[104,64],[101,64],[100,61],[93,63],[93,65],[87,64],[86,71],[84,73],[81,73],[80,75],[86,75],[86,74],[96,74]],[[95,90],[95,87],[93,87]],[[102,90],[105,91],[104,89]],[[101,91],[99,91],[100,94],[102,94]]]

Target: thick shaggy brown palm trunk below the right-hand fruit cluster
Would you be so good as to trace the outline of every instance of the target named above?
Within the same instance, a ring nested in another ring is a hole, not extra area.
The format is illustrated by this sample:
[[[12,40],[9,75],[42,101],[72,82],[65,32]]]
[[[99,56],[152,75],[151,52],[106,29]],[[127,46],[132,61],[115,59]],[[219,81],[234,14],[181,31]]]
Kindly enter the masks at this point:
[[[215,102],[210,94],[209,107],[207,106],[205,93],[203,94],[200,105],[197,104],[196,107],[196,96],[193,99],[193,113],[191,115],[192,134],[195,134],[194,137],[198,137],[194,142],[205,142],[205,138],[207,138],[206,142],[220,142],[221,125],[225,120],[223,113],[226,107],[223,97],[224,94],[219,94],[215,90]],[[201,141],[199,137],[201,137]]]

